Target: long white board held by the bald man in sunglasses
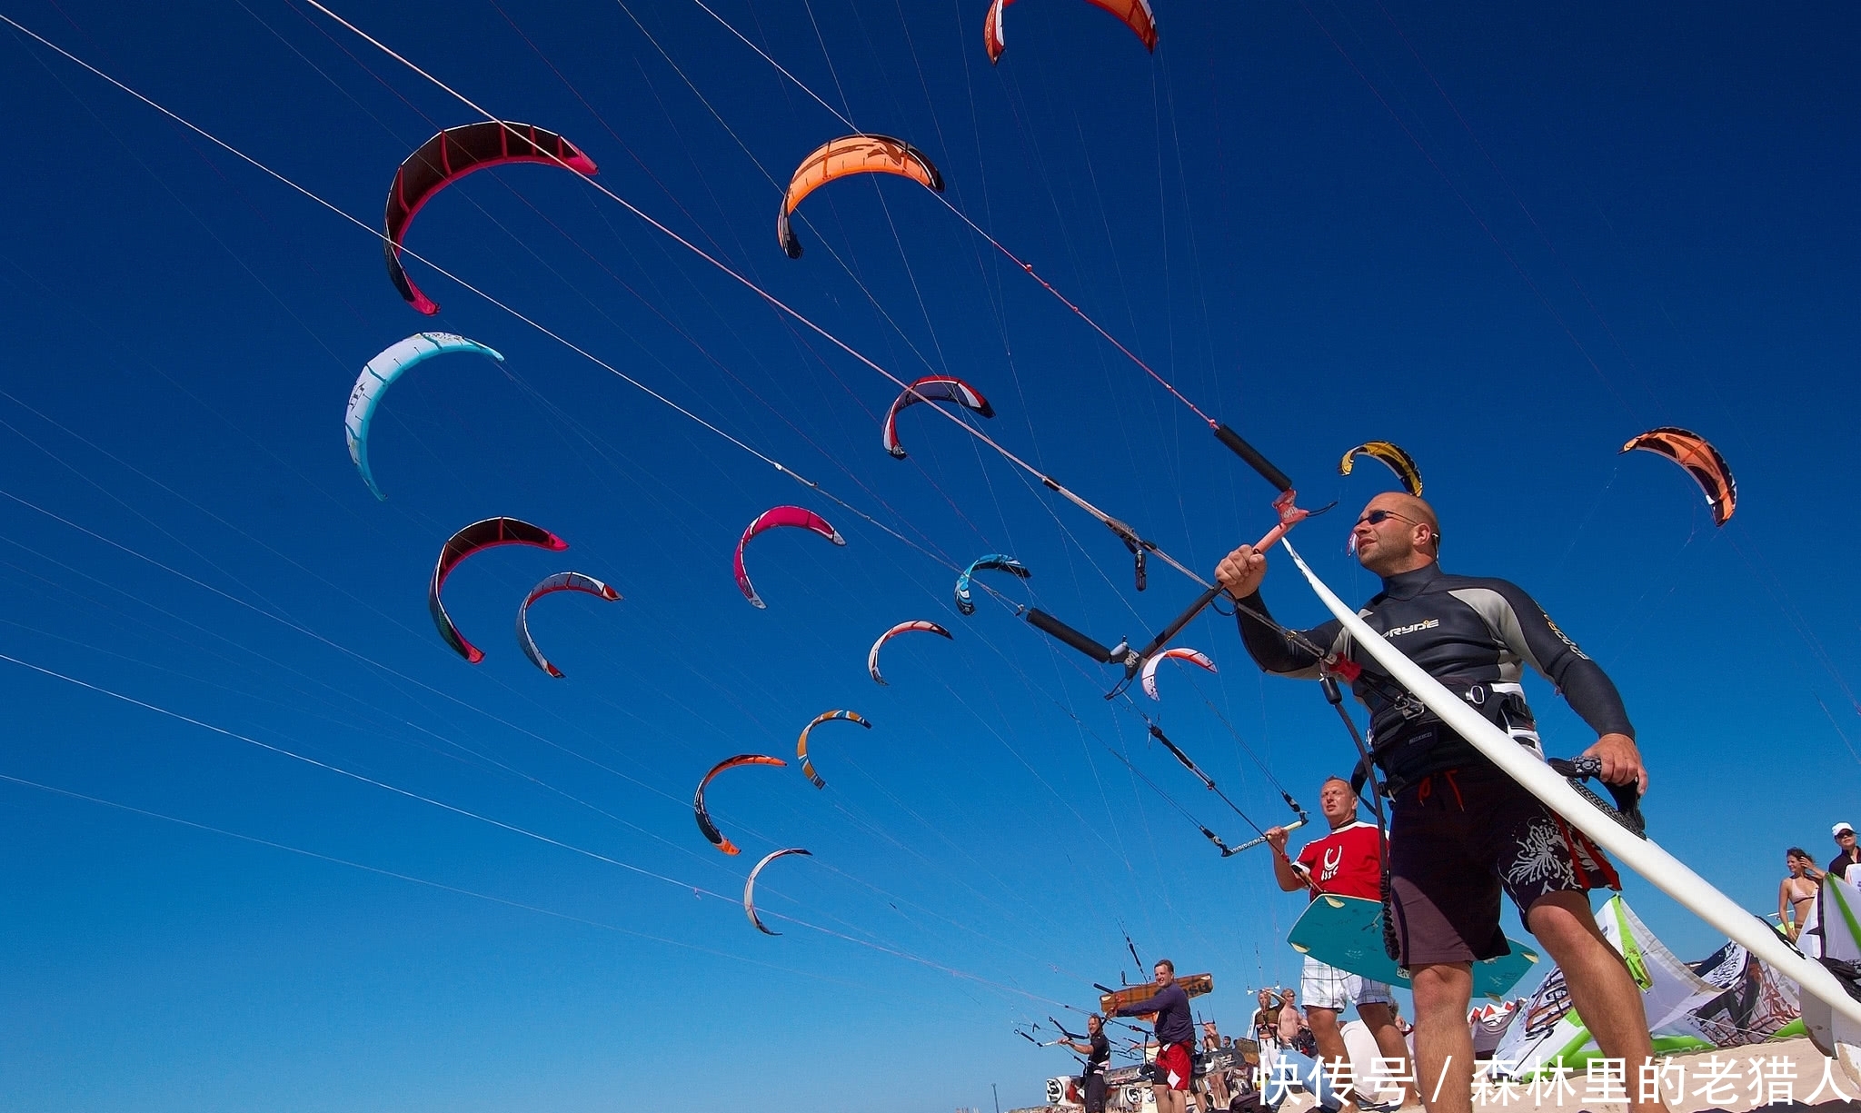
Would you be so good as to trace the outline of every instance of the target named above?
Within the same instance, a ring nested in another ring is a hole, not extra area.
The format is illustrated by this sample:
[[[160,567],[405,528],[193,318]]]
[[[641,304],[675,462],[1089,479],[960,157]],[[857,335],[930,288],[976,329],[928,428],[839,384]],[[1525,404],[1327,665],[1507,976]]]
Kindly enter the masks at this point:
[[[1409,661],[1401,650],[1390,646],[1357,610],[1351,610],[1336,592],[1325,586],[1325,581],[1318,579],[1318,573],[1312,571],[1305,558],[1299,556],[1299,551],[1284,538],[1280,545],[1286,547],[1293,564],[1305,575],[1306,583],[1312,584],[1312,592],[1318,594],[1319,601],[1325,603],[1325,609],[1331,610],[1351,640],[1362,646],[1396,683],[1414,692],[1450,730],[1498,765],[1506,776],[1517,780],[1520,787],[1561,815],[1565,823],[1589,836],[1591,841],[1613,854],[1617,862],[1640,873],[1643,880],[1684,905],[1714,929],[1725,932],[1727,938],[1742,944],[1744,949],[1770,962],[1777,968],[1777,973],[1794,979],[1805,994],[1824,1001],[1833,1012],[1850,1022],[1861,1024],[1861,1001],[1850,998],[1842,983],[1824,970],[1820,962],[1805,959],[1783,936],[1766,927],[1762,919],[1740,908],[1736,901],[1694,873],[1684,862],[1662,849],[1660,843],[1645,836],[1636,836],[1597,810],[1595,804],[1586,800],[1535,754],[1487,722],[1485,715],[1465,700],[1459,700],[1420,664]]]

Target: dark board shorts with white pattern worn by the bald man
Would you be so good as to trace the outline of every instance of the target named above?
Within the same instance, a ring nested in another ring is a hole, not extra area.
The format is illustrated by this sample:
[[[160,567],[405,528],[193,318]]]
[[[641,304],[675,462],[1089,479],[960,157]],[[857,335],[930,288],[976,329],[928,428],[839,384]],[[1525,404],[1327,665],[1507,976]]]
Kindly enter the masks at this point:
[[[1520,919],[1539,897],[1621,888],[1602,851],[1489,761],[1403,785],[1390,817],[1390,923],[1403,968],[1511,953],[1500,892]]]

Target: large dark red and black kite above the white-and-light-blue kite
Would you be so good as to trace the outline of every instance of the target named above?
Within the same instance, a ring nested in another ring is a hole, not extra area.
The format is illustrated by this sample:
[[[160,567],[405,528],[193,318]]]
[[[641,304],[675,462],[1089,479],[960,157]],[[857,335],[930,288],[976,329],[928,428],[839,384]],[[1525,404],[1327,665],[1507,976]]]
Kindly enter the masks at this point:
[[[395,182],[387,188],[387,238],[382,240],[382,255],[387,259],[387,277],[393,279],[408,305],[428,316],[439,313],[439,305],[422,294],[408,277],[406,268],[400,266],[400,242],[421,205],[476,169],[512,162],[566,166],[588,177],[596,173],[594,160],[582,154],[575,143],[536,125],[508,119],[486,119],[447,128],[421,143],[419,151],[408,154],[408,160],[395,171]]]

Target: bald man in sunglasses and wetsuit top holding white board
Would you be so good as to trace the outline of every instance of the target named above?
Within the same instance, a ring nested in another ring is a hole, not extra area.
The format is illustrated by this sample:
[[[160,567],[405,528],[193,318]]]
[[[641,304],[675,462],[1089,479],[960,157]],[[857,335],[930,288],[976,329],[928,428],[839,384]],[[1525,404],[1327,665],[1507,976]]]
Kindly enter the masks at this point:
[[[1414,495],[1377,495],[1351,527],[1351,547],[1383,577],[1383,590],[1360,614],[1392,646],[1543,758],[1519,683],[1530,664],[1597,731],[1597,744],[1584,754],[1600,759],[1604,780],[1647,789],[1634,728],[1610,677],[1532,596],[1502,579],[1440,571],[1433,506]],[[1239,601],[1241,640],[1260,668],[1318,679],[1321,659],[1269,622],[1260,597],[1265,571],[1265,555],[1252,545],[1215,568],[1215,579]],[[1628,1076],[1638,1078],[1636,1066],[1653,1055],[1641,994],[1589,912],[1589,890],[1619,888],[1602,852],[1448,730],[1368,653],[1359,655],[1338,622],[1303,635],[1364,670],[1351,689],[1370,707],[1372,758],[1392,798],[1388,918],[1398,962],[1412,977],[1416,1061],[1429,1109],[1472,1107],[1472,962],[1507,953],[1502,890],[1563,970],[1602,1053],[1627,1059]]]

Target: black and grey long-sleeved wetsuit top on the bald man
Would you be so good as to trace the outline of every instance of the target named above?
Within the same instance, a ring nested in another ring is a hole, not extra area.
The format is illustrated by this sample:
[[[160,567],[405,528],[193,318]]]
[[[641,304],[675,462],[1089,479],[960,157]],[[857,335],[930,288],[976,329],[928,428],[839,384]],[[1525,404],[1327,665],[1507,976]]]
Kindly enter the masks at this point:
[[[1319,659],[1249,616],[1249,610],[1267,614],[1258,592],[1241,599],[1239,627],[1260,668],[1318,679]],[[1533,748],[1537,733],[1519,685],[1526,664],[1558,685],[1571,709],[1599,737],[1634,737],[1628,711],[1610,677],[1517,584],[1448,575],[1439,564],[1429,564],[1383,577],[1383,590],[1359,614],[1429,676]],[[1377,765],[1399,784],[1483,761],[1466,741],[1442,730],[1439,718],[1407,698],[1368,653],[1359,655],[1342,624],[1332,620],[1303,633],[1308,642],[1362,666],[1351,691],[1370,707]]]

